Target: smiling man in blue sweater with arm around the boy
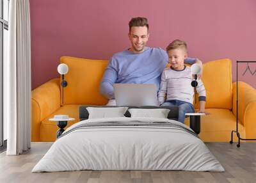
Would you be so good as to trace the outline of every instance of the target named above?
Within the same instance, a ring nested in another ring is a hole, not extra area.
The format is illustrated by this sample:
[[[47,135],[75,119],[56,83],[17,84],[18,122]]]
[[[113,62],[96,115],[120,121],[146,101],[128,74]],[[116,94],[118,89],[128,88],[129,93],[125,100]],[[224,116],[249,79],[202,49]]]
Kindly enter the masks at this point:
[[[100,83],[100,92],[109,99],[109,106],[116,106],[113,83],[156,84],[159,90],[161,74],[168,63],[168,54],[163,49],[146,47],[149,36],[146,18],[132,18],[128,36],[131,48],[112,56]],[[195,58],[187,58],[185,63],[202,65]]]

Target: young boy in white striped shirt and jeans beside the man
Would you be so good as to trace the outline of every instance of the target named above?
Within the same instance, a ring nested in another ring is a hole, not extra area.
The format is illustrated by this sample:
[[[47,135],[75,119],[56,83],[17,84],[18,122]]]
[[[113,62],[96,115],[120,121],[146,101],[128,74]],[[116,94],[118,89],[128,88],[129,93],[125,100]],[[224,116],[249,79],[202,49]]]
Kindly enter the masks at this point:
[[[184,65],[188,57],[186,42],[174,40],[166,47],[170,68],[165,68],[161,77],[158,100],[161,106],[179,106],[179,122],[184,123],[185,113],[195,113],[193,106],[194,88],[191,86],[193,77],[190,67]],[[201,80],[198,81],[196,91],[199,96],[200,109],[205,112],[205,88]],[[166,95],[167,93],[167,95]],[[164,102],[166,95],[166,101]]]

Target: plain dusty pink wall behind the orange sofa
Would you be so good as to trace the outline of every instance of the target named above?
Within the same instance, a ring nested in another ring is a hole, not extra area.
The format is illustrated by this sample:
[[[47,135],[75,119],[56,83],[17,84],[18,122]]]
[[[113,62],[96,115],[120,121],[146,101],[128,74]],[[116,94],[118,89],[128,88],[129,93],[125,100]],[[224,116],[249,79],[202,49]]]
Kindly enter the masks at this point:
[[[131,17],[147,17],[148,46],[186,40],[189,56],[256,60],[256,1],[31,0],[32,88],[58,77],[60,56],[104,59],[129,47]],[[256,70],[256,64],[252,65]],[[255,76],[243,77],[256,87]]]

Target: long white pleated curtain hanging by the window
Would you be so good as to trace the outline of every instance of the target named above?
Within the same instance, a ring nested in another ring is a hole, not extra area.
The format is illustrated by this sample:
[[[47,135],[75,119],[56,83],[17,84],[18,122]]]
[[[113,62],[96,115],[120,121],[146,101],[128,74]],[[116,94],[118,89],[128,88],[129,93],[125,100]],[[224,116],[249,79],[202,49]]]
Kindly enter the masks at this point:
[[[31,145],[31,51],[29,0],[10,0],[8,58],[4,63],[4,120],[8,155]]]

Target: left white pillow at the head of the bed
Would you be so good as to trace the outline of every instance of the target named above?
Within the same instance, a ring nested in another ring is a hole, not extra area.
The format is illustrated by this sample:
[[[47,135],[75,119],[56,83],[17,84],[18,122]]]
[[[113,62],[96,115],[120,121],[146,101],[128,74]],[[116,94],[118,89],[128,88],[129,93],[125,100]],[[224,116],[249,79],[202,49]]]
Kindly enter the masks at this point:
[[[120,118],[125,117],[124,114],[128,107],[86,107],[89,117],[95,118]]]

